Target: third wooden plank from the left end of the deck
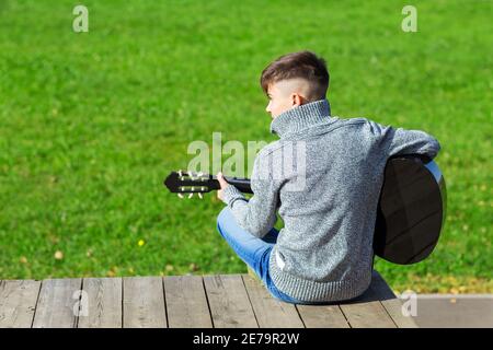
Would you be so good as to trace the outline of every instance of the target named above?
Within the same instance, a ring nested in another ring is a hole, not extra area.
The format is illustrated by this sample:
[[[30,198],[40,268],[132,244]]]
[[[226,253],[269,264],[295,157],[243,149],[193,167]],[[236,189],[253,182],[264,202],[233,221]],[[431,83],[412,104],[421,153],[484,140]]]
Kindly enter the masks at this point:
[[[122,328],[122,279],[85,278],[82,282],[87,315],[79,315],[79,328]]]

